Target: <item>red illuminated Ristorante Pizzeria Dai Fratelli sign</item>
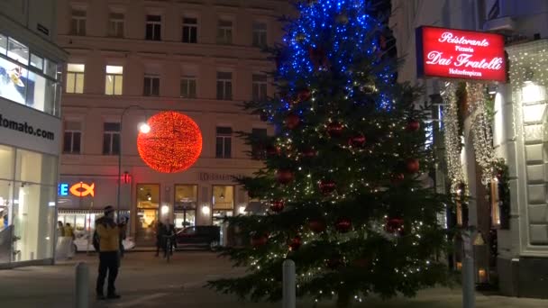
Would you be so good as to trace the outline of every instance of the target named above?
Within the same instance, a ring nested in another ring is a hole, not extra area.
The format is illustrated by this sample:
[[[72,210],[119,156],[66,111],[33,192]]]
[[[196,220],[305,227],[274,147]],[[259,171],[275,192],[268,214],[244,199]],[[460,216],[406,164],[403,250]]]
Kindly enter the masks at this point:
[[[507,81],[502,35],[422,26],[416,28],[418,77]]]

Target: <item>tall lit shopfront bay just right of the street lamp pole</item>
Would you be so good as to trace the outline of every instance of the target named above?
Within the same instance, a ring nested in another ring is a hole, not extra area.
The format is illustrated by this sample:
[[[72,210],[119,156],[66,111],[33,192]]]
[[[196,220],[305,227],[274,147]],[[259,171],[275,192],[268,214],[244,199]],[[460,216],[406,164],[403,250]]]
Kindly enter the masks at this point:
[[[156,225],[158,224],[160,208],[160,185],[137,185],[137,224],[136,240],[151,242],[156,240]]]

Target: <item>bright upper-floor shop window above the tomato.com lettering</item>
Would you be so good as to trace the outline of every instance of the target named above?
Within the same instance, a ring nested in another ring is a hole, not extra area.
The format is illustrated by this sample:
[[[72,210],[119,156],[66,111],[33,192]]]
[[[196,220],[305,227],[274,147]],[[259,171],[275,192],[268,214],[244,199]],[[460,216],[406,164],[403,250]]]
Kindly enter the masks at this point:
[[[30,55],[30,57],[29,57]],[[60,115],[57,64],[0,34],[0,96],[43,113]]]

